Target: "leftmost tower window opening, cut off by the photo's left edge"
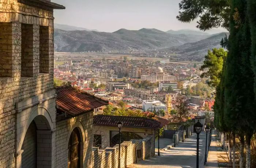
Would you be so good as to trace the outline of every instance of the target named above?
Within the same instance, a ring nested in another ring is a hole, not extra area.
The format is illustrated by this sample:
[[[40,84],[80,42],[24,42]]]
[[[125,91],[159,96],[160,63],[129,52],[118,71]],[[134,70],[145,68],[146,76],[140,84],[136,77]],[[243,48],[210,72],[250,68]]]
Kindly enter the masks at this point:
[[[0,23],[0,77],[12,76],[12,23]]]

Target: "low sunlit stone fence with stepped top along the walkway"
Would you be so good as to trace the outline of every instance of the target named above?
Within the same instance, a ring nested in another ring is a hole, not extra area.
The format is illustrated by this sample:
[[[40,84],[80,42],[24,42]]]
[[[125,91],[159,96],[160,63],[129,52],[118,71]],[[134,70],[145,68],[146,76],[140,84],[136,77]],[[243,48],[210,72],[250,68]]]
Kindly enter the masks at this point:
[[[117,168],[119,145],[112,148],[93,148],[93,168]],[[136,151],[141,150],[141,157]],[[147,136],[141,140],[124,141],[121,143],[121,168],[139,160],[145,160],[155,155],[154,137]]]

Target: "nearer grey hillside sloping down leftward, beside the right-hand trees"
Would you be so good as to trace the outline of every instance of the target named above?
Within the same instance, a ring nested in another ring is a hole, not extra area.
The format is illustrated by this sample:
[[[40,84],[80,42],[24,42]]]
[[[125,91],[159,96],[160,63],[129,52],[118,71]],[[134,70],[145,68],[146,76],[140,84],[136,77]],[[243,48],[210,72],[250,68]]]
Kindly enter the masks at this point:
[[[220,41],[226,34],[219,33],[197,42],[162,49],[161,52],[176,53],[177,55],[173,57],[176,60],[202,61],[208,49],[221,47]]]

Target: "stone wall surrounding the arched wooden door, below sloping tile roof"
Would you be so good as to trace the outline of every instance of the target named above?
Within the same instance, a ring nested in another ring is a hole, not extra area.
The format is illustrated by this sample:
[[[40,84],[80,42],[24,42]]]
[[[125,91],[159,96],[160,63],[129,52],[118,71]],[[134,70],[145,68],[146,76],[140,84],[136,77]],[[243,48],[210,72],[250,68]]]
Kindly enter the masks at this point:
[[[81,139],[81,167],[91,167],[93,147],[93,111],[69,119],[57,121],[57,168],[68,165],[68,141],[71,132],[78,128]]]

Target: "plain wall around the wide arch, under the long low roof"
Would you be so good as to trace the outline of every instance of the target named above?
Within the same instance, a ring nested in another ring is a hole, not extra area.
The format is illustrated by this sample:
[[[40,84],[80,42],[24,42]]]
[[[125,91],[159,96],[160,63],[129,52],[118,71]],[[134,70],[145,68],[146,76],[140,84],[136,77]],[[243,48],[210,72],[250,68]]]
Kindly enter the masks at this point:
[[[112,133],[112,137],[116,135],[119,132],[119,129],[117,127],[108,127],[108,126],[100,126],[100,125],[94,125],[93,126],[93,134],[101,135],[102,142],[101,146],[102,148],[110,147],[110,131],[114,131]],[[148,135],[154,135],[154,129],[149,128],[129,128],[129,127],[123,127],[121,129],[123,132],[134,132],[141,136],[142,138],[147,137]],[[116,133],[116,134],[115,134]]]

